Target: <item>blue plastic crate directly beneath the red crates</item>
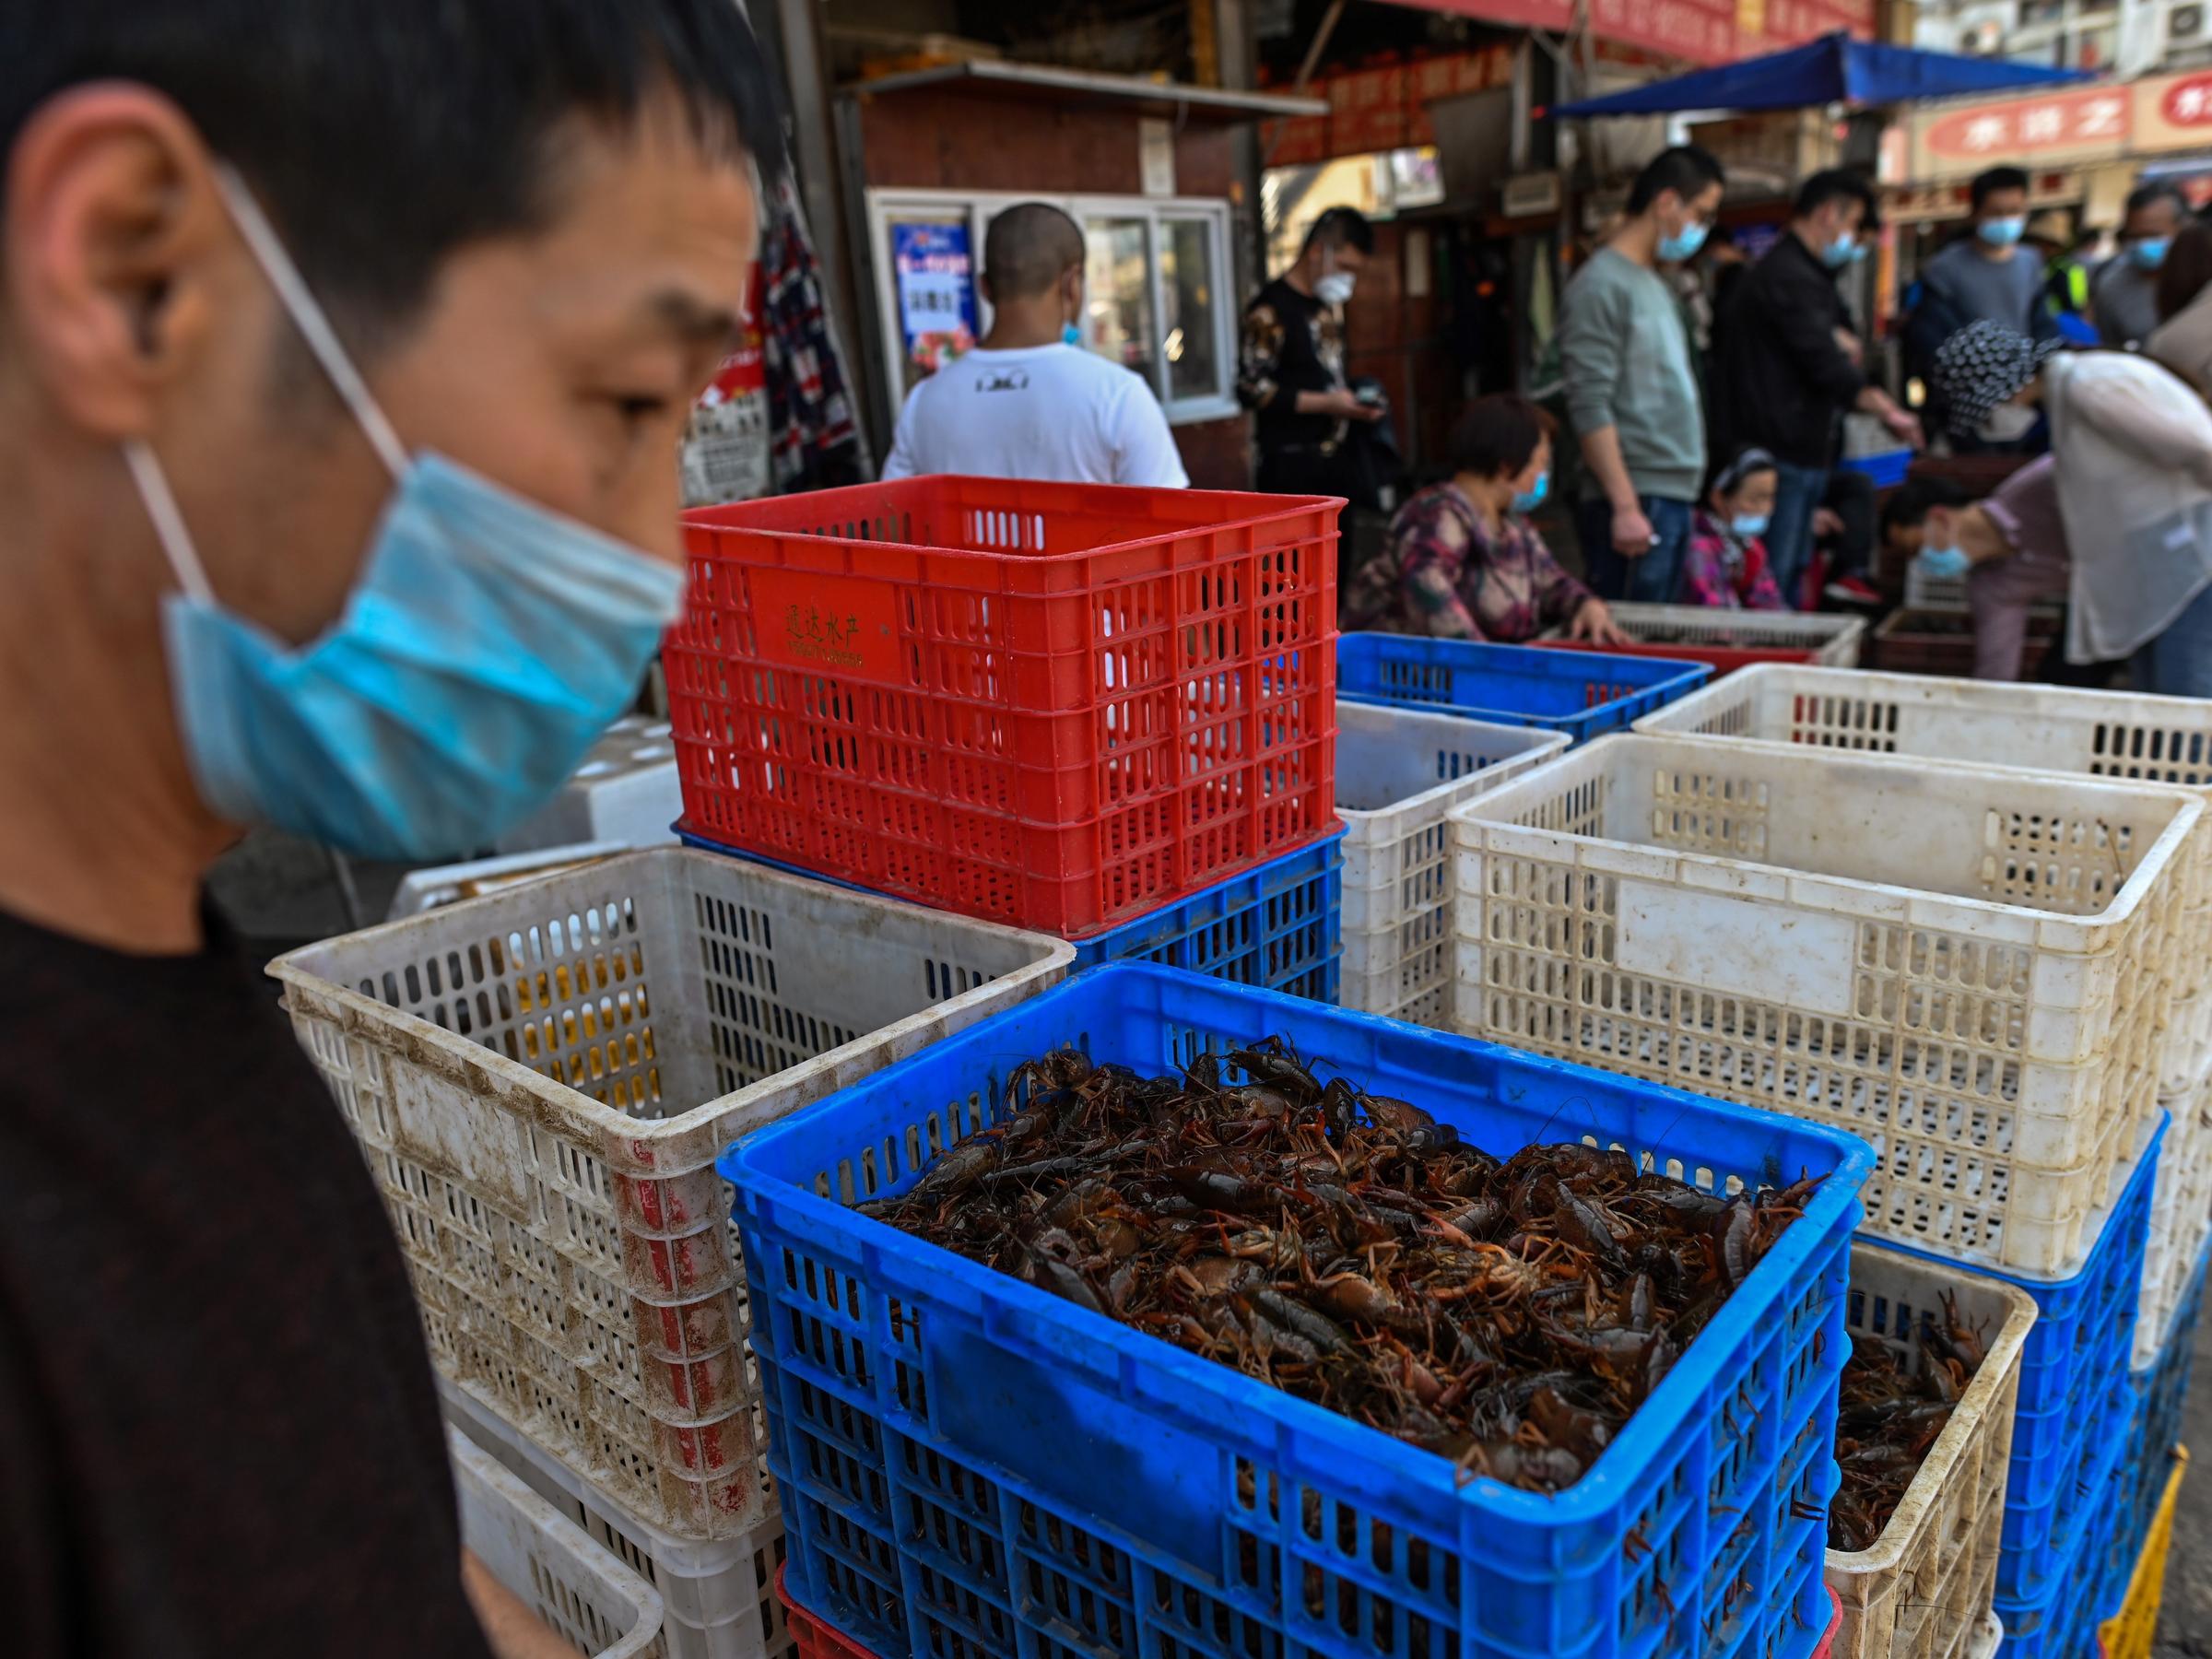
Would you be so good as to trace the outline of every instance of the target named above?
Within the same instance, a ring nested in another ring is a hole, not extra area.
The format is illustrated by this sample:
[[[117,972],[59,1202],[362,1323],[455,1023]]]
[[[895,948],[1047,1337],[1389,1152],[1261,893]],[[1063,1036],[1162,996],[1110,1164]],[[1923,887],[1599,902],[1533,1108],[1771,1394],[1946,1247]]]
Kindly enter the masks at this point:
[[[827,880],[832,887],[852,887],[847,880],[723,847],[684,830],[677,836],[686,847]],[[852,887],[852,891],[869,889]],[[1345,832],[1336,830],[1310,847],[1276,854],[1256,869],[1086,938],[1075,947],[1075,967],[1159,962],[1265,991],[1287,991],[1294,998],[1336,1002],[1343,914]]]

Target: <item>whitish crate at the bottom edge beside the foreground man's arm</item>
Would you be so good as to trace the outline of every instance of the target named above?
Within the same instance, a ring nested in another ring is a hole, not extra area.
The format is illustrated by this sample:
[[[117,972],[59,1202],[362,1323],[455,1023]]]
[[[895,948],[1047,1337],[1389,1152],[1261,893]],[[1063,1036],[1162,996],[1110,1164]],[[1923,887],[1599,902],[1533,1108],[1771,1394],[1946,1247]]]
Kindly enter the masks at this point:
[[[661,1597],[513,1471],[447,1429],[460,1542],[586,1659],[659,1659]]]

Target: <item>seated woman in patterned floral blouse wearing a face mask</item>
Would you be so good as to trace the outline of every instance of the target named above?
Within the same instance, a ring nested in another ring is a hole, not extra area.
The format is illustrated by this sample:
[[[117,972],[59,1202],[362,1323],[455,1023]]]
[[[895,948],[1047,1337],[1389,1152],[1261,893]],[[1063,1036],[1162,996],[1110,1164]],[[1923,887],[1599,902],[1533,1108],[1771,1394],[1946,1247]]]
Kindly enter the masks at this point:
[[[1526,398],[1478,398],[1451,429],[1451,478],[1405,507],[1345,591],[1347,630],[1517,646],[1546,628],[1624,644],[1606,602],[1559,568],[1528,522],[1551,489],[1553,420]]]

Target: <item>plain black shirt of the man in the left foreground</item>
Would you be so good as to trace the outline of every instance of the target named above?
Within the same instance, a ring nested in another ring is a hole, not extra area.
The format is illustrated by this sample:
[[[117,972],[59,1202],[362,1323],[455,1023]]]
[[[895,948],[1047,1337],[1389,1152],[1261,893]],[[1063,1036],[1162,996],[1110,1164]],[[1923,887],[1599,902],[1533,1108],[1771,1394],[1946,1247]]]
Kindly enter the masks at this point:
[[[484,1659],[376,1188],[268,982],[0,916],[11,1659]]]

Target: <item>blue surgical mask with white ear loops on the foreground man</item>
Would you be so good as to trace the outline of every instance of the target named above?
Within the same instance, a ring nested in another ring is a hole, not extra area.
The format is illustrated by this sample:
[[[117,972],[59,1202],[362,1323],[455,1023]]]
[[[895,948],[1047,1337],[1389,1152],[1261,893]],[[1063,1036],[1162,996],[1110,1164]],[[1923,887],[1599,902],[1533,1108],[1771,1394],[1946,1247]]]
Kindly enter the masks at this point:
[[[584,759],[681,613],[684,573],[436,453],[409,456],[228,168],[223,197],[394,491],[345,613],[288,646],[226,611],[161,465],[124,447],[181,593],[161,608],[201,799],[369,858],[487,845]]]

